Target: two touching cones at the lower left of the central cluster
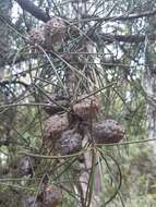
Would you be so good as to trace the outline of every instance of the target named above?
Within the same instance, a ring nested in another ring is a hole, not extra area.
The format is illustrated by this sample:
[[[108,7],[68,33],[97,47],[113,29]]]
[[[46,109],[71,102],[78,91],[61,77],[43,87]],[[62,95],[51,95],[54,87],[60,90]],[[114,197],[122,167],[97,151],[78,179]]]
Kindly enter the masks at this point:
[[[60,155],[70,155],[82,147],[82,136],[69,130],[68,114],[55,114],[45,122],[44,144]]]

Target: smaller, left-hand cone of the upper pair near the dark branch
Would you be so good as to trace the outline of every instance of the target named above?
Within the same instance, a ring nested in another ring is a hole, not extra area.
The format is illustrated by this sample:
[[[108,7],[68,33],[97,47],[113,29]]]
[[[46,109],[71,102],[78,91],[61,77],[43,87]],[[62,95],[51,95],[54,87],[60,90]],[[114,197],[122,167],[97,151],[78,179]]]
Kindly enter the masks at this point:
[[[32,28],[28,34],[28,38],[29,38],[29,45],[33,47],[35,47],[36,45],[44,47],[45,45],[44,31],[39,28]]]

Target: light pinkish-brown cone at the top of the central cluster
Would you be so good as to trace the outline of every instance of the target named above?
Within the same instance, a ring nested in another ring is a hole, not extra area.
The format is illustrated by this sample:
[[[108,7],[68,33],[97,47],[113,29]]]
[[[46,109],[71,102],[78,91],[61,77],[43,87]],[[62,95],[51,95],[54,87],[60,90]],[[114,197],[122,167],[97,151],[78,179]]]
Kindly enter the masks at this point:
[[[80,101],[73,105],[73,111],[82,120],[94,119],[99,111],[99,100],[95,96],[85,98],[86,95],[79,97]]]

